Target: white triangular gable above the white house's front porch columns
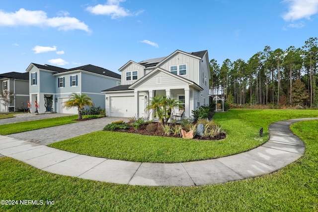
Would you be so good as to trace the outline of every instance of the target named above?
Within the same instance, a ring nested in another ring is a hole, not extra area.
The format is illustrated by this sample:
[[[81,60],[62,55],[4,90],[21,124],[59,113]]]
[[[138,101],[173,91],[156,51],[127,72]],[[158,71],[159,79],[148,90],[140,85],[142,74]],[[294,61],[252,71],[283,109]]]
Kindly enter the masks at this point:
[[[161,78],[161,83],[157,83],[157,77]],[[138,90],[141,90],[145,88],[146,90],[149,89],[156,89],[159,87],[164,87],[164,88],[171,88],[173,89],[174,87],[184,87],[186,82],[176,79],[173,76],[168,75],[167,73],[163,73],[162,71],[159,71],[158,73],[155,73],[152,75],[150,78],[142,82],[141,84],[138,85]]]

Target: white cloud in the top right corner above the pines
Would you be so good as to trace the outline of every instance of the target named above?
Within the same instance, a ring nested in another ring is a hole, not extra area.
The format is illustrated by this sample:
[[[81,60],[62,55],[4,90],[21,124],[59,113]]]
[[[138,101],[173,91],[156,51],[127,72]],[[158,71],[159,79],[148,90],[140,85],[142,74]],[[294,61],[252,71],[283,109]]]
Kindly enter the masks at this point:
[[[284,0],[289,11],[282,15],[285,21],[294,21],[310,17],[318,12],[318,0]]]

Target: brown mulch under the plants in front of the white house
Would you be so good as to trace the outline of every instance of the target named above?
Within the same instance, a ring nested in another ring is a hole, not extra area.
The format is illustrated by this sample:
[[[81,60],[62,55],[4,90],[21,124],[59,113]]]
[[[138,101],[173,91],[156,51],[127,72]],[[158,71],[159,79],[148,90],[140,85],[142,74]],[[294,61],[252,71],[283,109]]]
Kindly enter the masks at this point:
[[[129,124],[129,123],[128,123]],[[158,123],[155,123],[158,126]],[[146,135],[146,136],[163,136],[163,137],[174,137],[174,138],[180,138],[179,135],[173,135],[170,134],[169,136],[167,136],[166,134],[164,134],[163,132],[160,132],[160,130],[157,130],[155,132],[149,132],[147,131],[147,126],[140,126],[138,128],[138,130],[136,131],[134,127],[130,126],[129,129],[127,130],[114,130],[114,132],[124,132],[124,133],[135,133],[135,134],[141,134],[141,135]],[[225,134],[220,134],[218,136],[215,136],[213,138],[211,137],[201,137],[201,136],[194,136],[193,139],[196,140],[209,140],[209,141],[216,141],[216,140],[222,140],[225,139],[227,136]]]

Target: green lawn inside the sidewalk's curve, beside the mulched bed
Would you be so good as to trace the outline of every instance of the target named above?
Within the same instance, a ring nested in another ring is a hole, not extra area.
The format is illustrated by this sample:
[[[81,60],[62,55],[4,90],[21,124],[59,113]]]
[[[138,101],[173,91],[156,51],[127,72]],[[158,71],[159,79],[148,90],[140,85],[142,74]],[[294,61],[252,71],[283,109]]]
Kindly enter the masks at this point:
[[[273,122],[317,116],[317,110],[236,109],[214,116],[214,120],[227,132],[227,139],[221,141],[184,140],[99,131],[49,146],[79,154],[120,160],[165,163],[195,161],[255,148],[268,140],[268,126]],[[262,138],[259,138],[260,127],[264,129]]]

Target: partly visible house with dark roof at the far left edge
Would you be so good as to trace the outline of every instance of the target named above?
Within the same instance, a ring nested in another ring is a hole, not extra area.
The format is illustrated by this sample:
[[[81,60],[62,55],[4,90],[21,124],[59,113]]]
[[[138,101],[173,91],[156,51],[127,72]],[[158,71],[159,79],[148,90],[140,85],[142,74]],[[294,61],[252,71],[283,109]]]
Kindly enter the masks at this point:
[[[3,90],[9,90],[14,94],[14,99],[8,107],[8,111],[26,110],[27,101],[29,100],[29,74],[19,72],[1,73],[0,83],[1,92]],[[2,103],[1,99],[0,103]],[[5,107],[2,104],[0,104],[0,112],[5,112]]]

